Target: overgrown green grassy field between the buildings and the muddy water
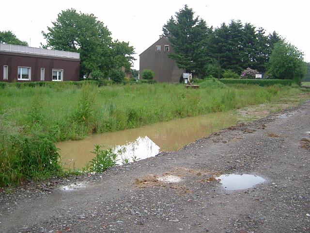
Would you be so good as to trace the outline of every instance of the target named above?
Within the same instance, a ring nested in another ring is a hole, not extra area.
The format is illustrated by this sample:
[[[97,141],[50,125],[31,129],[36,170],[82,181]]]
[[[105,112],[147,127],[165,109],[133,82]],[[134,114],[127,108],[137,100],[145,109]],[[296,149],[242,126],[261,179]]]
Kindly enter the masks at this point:
[[[54,142],[186,116],[225,112],[301,92],[297,86],[181,84],[82,87],[69,83],[0,89],[0,186],[61,174]]]

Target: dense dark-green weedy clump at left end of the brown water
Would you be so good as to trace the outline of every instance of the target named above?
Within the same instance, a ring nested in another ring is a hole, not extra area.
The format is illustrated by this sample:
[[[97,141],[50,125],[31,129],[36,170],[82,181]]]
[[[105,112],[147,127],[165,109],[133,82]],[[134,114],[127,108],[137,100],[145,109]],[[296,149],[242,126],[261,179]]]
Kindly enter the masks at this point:
[[[6,135],[0,143],[0,186],[59,174],[58,149],[44,134]]]

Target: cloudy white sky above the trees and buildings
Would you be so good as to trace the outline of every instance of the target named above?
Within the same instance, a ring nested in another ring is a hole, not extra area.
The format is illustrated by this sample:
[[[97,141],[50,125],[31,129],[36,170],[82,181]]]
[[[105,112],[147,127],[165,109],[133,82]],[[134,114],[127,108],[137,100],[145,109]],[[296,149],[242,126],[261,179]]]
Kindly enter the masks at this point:
[[[240,19],[263,27],[267,33],[276,31],[310,62],[308,0],[10,0],[0,2],[0,31],[11,30],[32,47],[39,47],[46,43],[41,31],[47,31],[62,10],[93,13],[114,39],[129,41],[135,48],[134,68],[139,69],[139,54],[159,38],[162,26],[185,4],[209,26]]]

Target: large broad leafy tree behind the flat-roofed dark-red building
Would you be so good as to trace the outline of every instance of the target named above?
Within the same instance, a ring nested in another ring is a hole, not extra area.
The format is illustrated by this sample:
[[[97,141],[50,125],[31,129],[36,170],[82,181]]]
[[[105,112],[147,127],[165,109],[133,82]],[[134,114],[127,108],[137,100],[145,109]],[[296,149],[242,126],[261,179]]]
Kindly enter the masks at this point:
[[[68,9],[58,14],[52,27],[42,34],[47,40],[44,48],[80,53],[80,76],[99,70],[108,77],[113,69],[130,68],[134,60],[133,47],[126,42],[113,41],[103,22],[93,14]]]

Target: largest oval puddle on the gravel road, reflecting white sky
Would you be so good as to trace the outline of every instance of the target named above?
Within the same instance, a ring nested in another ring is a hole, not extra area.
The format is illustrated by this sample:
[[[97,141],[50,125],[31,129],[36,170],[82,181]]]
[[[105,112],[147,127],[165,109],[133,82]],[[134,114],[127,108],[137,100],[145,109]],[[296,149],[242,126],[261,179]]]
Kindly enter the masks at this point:
[[[229,191],[252,188],[266,181],[263,177],[248,174],[221,175],[217,179],[220,179],[222,186]]]

